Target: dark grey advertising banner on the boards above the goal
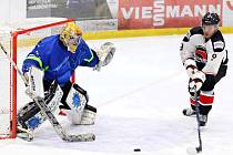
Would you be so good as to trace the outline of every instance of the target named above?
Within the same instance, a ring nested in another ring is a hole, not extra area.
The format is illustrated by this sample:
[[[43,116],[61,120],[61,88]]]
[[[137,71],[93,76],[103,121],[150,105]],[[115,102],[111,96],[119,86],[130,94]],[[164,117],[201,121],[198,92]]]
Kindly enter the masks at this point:
[[[27,0],[27,17],[112,19],[107,0]]]

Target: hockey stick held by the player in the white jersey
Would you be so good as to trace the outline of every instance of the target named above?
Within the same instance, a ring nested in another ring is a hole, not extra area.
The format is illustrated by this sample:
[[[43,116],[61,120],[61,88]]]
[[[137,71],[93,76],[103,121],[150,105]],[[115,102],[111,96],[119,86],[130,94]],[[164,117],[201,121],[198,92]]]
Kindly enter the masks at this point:
[[[200,152],[202,152],[202,137],[201,137],[201,128],[200,128],[200,103],[197,101],[197,91],[196,91],[196,86],[194,87],[195,90],[195,94],[194,94],[194,97],[195,97],[195,115],[196,115],[196,122],[197,122],[197,135],[199,135],[199,147],[190,147],[188,148],[188,153],[189,154],[197,154]]]

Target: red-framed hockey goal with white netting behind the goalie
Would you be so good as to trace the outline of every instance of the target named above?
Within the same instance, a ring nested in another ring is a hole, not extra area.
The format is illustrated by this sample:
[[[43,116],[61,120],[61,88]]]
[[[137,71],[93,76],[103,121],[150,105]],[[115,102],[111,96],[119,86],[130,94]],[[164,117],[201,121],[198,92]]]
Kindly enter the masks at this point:
[[[23,56],[19,56],[20,48],[33,48],[41,39],[51,34],[59,33],[65,23],[72,21],[74,21],[74,19],[37,18],[27,19],[19,23],[6,24],[1,27],[0,41],[9,52],[11,59],[17,64],[19,64],[20,59],[22,64],[23,59],[31,50],[26,50],[26,52],[23,50]],[[21,85],[23,85],[23,83],[22,80],[18,80],[19,78],[17,75],[17,71],[7,60],[7,56],[3,54],[2,51],[0,52],[0,65],[1,68],[2,65],[6,68],[2,71],[0,71],[1,78],[4,76],[4,81],[0,82],[0,90],[3,90],[1,92],[2,99],[0,99],[0,140],[16,138],[17,107],[19,106],[18,87],[20,82]],[[19,65],[19,68],[21,66]],[[74,74],[72,75],[71,81],[74,82]],[[24,101],[24,99],[21,100]],[[21,103],[21,106],[26,103],[27,102]]]

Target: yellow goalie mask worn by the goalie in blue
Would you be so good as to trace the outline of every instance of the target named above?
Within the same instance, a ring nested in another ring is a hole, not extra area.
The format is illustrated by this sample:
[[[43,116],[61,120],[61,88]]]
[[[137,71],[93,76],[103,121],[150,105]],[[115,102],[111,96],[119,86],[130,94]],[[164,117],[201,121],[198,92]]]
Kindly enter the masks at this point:
[[[63,42],[65,46],[68,46],[68,50],[71,53],[75,53],[75,50],[81,41],[81,38],[82,38],[82,31],[74,22],[67,23],[60,34],[60,40]]]

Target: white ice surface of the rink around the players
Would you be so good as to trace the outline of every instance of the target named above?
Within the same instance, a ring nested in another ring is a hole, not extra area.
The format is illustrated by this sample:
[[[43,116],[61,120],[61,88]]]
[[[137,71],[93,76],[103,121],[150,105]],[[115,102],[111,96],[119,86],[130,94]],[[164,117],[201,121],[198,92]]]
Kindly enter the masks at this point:
[[[202,130],[203,155],[233,152],[233,35],[225,34],[229,71],[215,86],[215,101],[207,126]],[[98,107],[97,124],[72,126],[60,122],[71,133],[93,132],[90,143],[62,142],[49,123],[37,132],[33,142],[19,138],[0,141],[0,154],[153,154],[185,155],[197,146],[195,117],[182,115],[189,107],[188,75],[179,48],[182,35],[108,40],[116,52],[101,72],[77,70],[77,82]],[[99,46],[103,41],[88,41]],[[22,103],[20,103],[22,104]],[[134,153],[141,148],[141,153]]]

